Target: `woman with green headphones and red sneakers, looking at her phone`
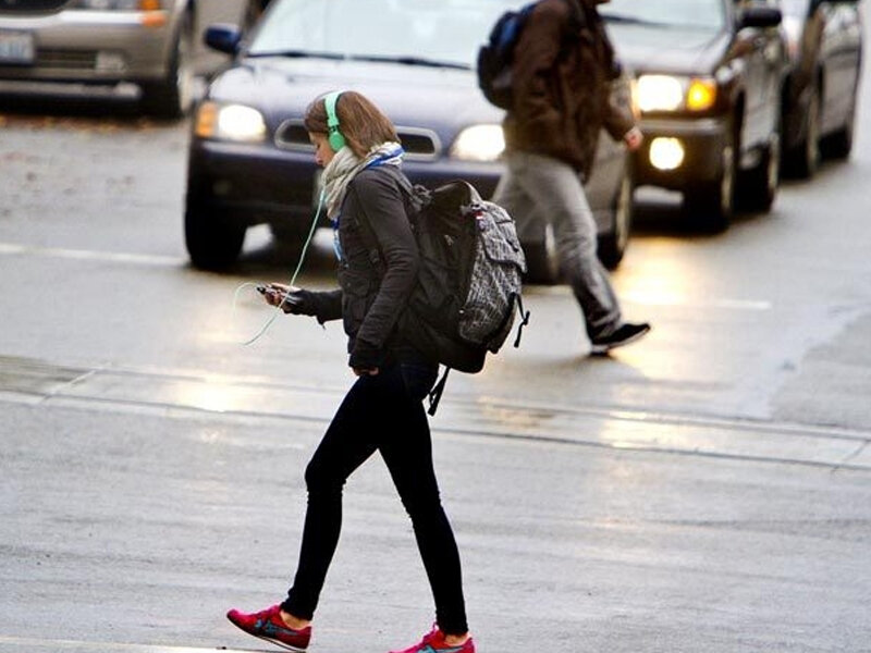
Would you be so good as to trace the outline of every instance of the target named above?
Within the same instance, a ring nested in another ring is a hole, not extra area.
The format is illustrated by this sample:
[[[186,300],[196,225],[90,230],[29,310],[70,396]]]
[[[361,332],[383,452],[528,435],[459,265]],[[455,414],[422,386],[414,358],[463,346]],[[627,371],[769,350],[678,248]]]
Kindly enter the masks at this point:
[[[321,323],[342,319],[348,365],[357,375],[306,468],[308,507],[296,576],[283,603],[228,618],[245,632],[302,651],[339,543],[342,488],[379,452],[412,518],[436,602],[436,625],[421,642],[394,653],[474,653],[454,534],[439,497],[422,399],[438,375],[402,338],[397,320],[417,279],[418,251],[407,218],[410,198],[397,175],[403,149],[391,121],[366,97],[331,93],[308,108],[305,127],[323,167],[328,217],[335,230],[340,288],[282,284],[263,291],[285,312]],[[377,254],[372,244],[377,244]]]

